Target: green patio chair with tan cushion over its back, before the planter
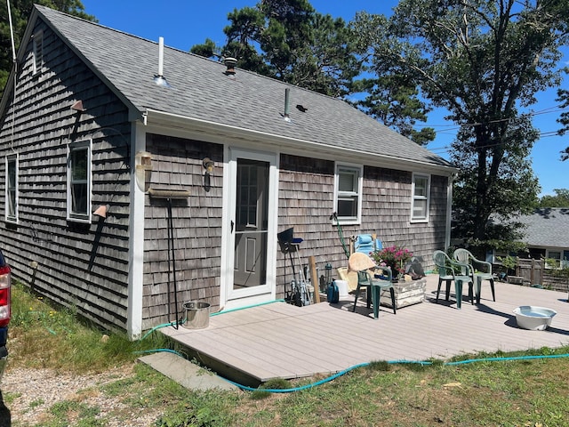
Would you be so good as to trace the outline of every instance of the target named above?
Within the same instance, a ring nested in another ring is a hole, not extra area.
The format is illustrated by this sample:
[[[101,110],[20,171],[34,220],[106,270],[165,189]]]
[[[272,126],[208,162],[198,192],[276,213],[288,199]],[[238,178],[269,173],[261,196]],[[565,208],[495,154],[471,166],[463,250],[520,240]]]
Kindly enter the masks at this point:
[[[375,278],[372,278],[372,273],[370,272],[371,269],[375,270]],[[393,288],[393,283],[391,283],[391,270],[389,270],[389,268],[378,266],[373,262],[369,255],[356,252],[349,256],[348,270],[357,271],[356,298],[354,300],[354,307],[352,308],[352,311],[356,311],[357,299],[359,298],[362,287],[365,287],[365,293],[367,294],[367,308],[369,309],[373,303],[373,318],[379,317],[381,291],[384,289],[389,289],[393,313],[397,314],[395,289]]]

